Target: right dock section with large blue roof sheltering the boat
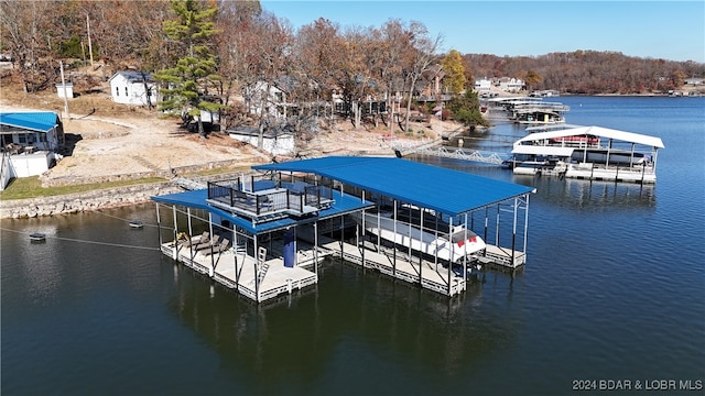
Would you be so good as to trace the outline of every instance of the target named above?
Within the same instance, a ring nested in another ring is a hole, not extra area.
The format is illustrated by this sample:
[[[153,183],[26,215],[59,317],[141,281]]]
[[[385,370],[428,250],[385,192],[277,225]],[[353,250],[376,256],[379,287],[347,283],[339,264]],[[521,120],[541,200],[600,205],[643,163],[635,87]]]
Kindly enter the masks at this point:
[[[525,263],[529,195],[533,187],[394,157],[332,156],[259,165],[253,169],[289,172],[292,177],[314,175],[343,196],[373,202],[375,208],[360,209],[362,219],[365,212],[379,211],[381,207],[394,211],[405,207],[432,213],[452,227],[481,230],[477,234],[482,235],[487,249],[465,254],[467,244],[453,244],[451,249],[458,252],[451,256],[463,256],[453,263],[440,260],[437,254],[412,250],[414,241],[409,237],[406,240],[400,237],[401,242],[397,243],[384,241],[368,232],[364,221],[350,221],[350,216],[339,219],[336,227],[339,238],[318,238],[324,249],[339,253],[346,261],[395,278],[453,296],[465,290],[471,268],[488,264],[514,270]],[[511,219],[510,227],[506,226],[507,218]],[[424,226],[423,220],[416,226],[443,237],[437,229],[431,230],[431,224]],[[490,239],[492,243],[488,242]]]

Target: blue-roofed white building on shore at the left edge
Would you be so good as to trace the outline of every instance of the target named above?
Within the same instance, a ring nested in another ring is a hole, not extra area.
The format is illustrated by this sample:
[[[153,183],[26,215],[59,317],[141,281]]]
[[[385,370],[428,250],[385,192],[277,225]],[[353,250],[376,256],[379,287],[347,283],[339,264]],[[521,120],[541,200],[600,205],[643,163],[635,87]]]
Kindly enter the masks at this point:
[[[41,175],[61,158],[64,127],[53,111],[0,112],[0,190],[13,177]]]

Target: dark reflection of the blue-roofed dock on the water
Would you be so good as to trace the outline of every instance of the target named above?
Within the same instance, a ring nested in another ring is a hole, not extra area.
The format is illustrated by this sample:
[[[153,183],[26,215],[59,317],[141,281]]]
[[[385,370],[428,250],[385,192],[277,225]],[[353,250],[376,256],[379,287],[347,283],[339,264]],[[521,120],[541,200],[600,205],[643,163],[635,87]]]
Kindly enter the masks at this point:
[[[328,261],[313,293],[275,305],[256,305],[220,285],[212,295],[209,280],[188,268],[180,267],[180,272],[178,301],[171,309],[235,371],[248,372],[260,378],[259,384],[272,386],[259,391],[274,391],[282,372],[313,381],[316,375],[312,373],[325,371],[326,362],[340,351],[359,361],[367,349],[382,349],[378,353],[386,356],[412,358],[410,361],[423,362],[429,369],[457,373],[518,331],[516,317],[505,321],[488,315],[484,275],[470,282],[464,295],[448,299],[369,270]],[[492,289],[509,283],[507,275],[491,276],[502,285]],[[510,294],[507,289],[501,293]],[[351,340],[357,341],[350,344]]]

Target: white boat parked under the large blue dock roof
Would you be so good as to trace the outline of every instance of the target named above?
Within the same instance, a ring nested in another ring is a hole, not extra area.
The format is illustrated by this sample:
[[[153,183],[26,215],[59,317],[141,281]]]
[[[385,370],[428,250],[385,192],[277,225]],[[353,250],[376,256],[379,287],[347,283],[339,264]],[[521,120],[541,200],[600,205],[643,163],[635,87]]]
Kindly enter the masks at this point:
[[[365,230],[379,238],[398,245],[411,248],[441,260],[462,263],[464,257],[484,251],[485,241],[465,226],[449,226],[432,212],[423,211],[423,228],[420,210],[415,207],[403,206],[397,210],[365,212]],[[356,212],[351,217],[362,223],[362,213]]]

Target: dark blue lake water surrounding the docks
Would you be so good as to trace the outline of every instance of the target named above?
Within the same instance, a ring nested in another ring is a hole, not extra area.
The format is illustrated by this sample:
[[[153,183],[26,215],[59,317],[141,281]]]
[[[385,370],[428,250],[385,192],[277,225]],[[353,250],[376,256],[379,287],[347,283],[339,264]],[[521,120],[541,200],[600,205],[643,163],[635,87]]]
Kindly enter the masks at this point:
[[[568,123],[660,136],[657,185],[416,158],[538,190],[525,268],[453,299],[330,261],[257,306],[164,257],[153,205],[2,220],[2,395],[702,393],[705,98],[552,100]]]

